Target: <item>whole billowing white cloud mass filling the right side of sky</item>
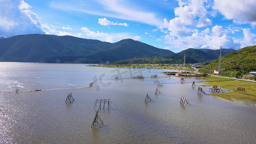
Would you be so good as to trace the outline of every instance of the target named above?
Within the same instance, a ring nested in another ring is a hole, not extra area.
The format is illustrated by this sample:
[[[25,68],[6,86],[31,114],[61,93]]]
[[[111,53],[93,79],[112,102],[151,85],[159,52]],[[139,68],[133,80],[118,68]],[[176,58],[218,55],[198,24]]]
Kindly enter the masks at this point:
[[[184,50],[187,48],[244,48],[246,46],[256,45],[256,35],[252,34],[249,29],[243,29],[244,38],[237,39],[228,34],[235,34],[241,31],[242,28],[230,25],[223,27],[215,25],[211,29],[206,28],[199,31],[195,27],[205,27],[212,24],[212,20],[207,16],[216,16],[219,10],[227,19],[233,19],[236,23],[245,24],[256,22],[256,1],[244,0],[215,0],[215,6],[211,10],[214,3],[209,0],[177,0],[179,7],[175,8],[175,17],[170,21],[164,19],[163,25],[159,26],[161,32],[165,33],[164,41],[170,46],[171,50]],[[240,4],[243,3],[243,4]],[[253,6],[249,6],[249,5]],[[230,8],[231,7],[231,10]],[[239,7],[239,8],[238,8]],[[246,10],[246,8],[249,10]],[[237,10],[236,10],[237,9]],[[236,12],[234,12],[236,11]],[[246,12],[249,14],[246,14]],[[243,22],[244,21],[244,22]],[[159,41],[159,40],[158,40]]]

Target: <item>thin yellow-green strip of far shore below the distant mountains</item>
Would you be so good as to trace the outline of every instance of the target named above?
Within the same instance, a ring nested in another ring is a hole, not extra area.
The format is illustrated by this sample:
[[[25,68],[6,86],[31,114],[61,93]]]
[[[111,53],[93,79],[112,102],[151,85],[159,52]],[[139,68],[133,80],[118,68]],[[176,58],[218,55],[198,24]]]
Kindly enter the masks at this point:
[[[159,66],[159,67],[144,67],[144,66],[132,66],[132,65],[88,65],[93,67],[106,67],[106,68],[148,68],[148,69],[174,69],[183,70],[183,67],[172,67],[172,66]],[[184,70],[193,71],[191,67],[185,67]]]

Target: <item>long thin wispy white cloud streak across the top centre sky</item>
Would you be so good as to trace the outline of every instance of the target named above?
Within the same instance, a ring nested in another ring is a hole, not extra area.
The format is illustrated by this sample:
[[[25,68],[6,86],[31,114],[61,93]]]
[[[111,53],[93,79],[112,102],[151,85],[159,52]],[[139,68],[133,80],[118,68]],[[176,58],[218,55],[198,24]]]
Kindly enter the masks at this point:
[[[129,4],[124,0],[96,0],[90,2],[81,2],[80,0],[69,1],[51,1],[50,7],[61,11],[84,12],[94,15],[107,16],[123,20],[130,20],[154,26],[161,25],[161,20],[154,12],[139,10],[139,7]]]

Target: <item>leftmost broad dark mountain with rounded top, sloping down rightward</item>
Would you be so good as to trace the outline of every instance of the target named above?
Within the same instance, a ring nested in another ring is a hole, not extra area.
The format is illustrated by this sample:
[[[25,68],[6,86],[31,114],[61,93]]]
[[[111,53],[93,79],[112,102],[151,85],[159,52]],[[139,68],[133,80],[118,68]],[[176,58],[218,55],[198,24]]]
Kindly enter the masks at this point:
[[[0,57],[4,61],[38,62],[46,55],[78,55],[78,53],[51,38],[50,35],[20,35],[0,39]]]

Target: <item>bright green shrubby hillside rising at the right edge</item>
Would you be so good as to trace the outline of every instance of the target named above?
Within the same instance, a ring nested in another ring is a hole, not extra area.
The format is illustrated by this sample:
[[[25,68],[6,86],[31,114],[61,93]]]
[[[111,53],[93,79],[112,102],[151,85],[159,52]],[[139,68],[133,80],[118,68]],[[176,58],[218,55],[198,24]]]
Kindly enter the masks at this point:
[[[256,46],[246,47],[234,51],[221,58],[221,67],[225,71],[241,72],[248,74],[248,72],[256,71]],[[219,59],[212,61],[199,72],[213,72],[218,70]]]

